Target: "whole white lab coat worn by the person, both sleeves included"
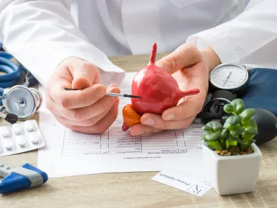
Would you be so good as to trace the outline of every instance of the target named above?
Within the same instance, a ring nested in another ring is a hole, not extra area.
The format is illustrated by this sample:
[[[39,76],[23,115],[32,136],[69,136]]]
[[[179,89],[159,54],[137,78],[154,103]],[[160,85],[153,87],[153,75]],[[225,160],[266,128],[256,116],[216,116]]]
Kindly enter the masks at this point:
[[[276,0],[0,0],[6,50],[43,85],[76,56],[100,68],[100,82],[124,71],[107,56],[211,46],[222,62],[277,68]],[[247,7],[246,7],[247,6]]]

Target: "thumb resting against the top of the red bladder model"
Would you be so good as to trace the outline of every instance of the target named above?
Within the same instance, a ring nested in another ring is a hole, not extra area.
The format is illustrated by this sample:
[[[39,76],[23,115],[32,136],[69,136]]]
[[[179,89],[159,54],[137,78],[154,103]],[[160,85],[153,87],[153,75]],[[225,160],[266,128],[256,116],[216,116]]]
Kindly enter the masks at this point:
[[[202,55],[195,46],[182,44],[175,51],[156,62],[157,67],[172,74],[180,69],[190,67],[202,60]]]

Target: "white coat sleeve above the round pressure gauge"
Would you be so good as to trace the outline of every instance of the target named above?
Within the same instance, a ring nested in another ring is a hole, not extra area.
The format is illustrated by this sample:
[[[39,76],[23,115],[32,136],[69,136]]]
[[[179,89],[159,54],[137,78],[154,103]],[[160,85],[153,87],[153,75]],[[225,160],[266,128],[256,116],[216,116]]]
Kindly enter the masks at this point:
[[[215,28],[191,35],[187,43],[211,46],[222,63],[277,69],[277,1],[250,1],[240,15]]]

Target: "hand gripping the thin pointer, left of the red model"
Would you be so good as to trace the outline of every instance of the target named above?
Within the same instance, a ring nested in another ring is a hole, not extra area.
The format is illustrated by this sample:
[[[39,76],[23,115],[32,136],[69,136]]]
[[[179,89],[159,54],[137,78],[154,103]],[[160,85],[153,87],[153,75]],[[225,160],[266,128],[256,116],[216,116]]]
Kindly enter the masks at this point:
[[[87,134],[102,133],[118,115],[120,93],[116,85],[98,84],[98,68],[79,58],[66,58],[46,83],[46,107],[66,128]],[[80,89],[66,91],[64,88]]]

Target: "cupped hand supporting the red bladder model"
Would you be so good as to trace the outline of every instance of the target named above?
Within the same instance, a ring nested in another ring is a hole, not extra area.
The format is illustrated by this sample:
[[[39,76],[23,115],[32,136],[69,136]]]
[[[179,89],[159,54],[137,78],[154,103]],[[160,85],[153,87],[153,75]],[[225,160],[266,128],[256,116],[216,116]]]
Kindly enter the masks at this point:
[[[131,135],[188,127],[202,110],[208,92],[209,71],[220,64],[220,60],[213,49],[199,51],[194,46],[183,44],[156,64],[177,80],[182,91],[199,89],[200,92],[181,98],[177,106],[168,108],[161,115],[143,114],[141,124],[132,126]]]

